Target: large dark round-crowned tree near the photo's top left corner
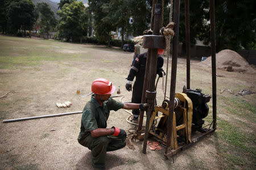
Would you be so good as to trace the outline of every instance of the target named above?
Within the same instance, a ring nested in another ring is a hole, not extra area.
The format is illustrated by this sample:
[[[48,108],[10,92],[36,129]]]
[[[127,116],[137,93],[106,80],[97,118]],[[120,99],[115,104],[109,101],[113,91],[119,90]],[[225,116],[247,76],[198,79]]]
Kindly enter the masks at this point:
[[[26,30],[30,31],[36,21],[35,5],[31,0],[11,2],[7,17],[11,33],[16,33],[22,29],[26,35]]]

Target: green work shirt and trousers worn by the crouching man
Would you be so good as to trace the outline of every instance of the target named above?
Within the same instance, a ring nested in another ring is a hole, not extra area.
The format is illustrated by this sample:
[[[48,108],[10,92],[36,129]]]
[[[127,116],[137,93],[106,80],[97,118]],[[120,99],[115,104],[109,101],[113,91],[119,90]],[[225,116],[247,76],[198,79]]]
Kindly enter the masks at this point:
[[[109,112],[123,108],[123,103],[109,97],[101,107],[93,96],[82,111],[81,131],[77,140],[82,146],[88,147],[92,151],[93,167],[103,168],[105,167],[106,152],[125,147],[126,141],[113,135],[92,137],[90,131],[106,128]]]

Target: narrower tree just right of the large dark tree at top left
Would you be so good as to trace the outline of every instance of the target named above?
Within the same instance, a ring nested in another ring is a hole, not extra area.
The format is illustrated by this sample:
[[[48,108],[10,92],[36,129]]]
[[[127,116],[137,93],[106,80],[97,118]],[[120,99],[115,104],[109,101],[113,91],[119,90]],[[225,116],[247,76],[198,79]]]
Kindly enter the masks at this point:
[[[47,33],[47,39],[49,37],[49,31],[55,27],[56,18],[51,7],[46,2],[39,2],[38,10],[40,12],[40,32]]]

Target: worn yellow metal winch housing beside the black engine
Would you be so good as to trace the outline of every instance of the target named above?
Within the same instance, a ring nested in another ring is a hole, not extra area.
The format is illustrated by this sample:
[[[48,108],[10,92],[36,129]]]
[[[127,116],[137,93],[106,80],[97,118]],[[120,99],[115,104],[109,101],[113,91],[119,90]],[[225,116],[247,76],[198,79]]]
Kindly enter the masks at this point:
[[[173,133],[171,136],[171,147],[172,150],[178,148],[178,143],[189,144],[191,143],[191,131],[192,131],[192,114],[193,104],[191,99],[184,93],[177,93],[175,97],[180,100],[180,105],[174,109],[174,121],[173,121]],[[160,116],[157,114],[162,113]],[[167,142],[167,120],[168,120],[169,109],[164,108],[162,105],[155,106],[154,112],[150,117],[150,130],[149,133],[154,135],[163,142]],[[158,126],[154,128],[153,123],[155,120],[160,121]]]

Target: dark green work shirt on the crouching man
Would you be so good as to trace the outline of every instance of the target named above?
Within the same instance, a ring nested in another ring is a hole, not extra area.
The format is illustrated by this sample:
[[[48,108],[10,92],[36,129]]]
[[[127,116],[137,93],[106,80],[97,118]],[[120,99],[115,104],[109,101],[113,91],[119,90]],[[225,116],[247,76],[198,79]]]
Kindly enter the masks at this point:
[[[82,111],[79,140],[90,135],[90,131],[94,129],[106,128],[109,112],[123,108],[123,103],[115,101],[112,97],[109,97],[108,100],[104,101],[101,107],[93,96],[94,95],[92,95],[90,101],[86,103],[84,110]]]

